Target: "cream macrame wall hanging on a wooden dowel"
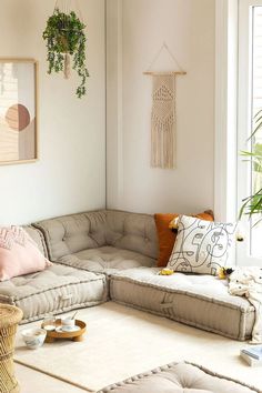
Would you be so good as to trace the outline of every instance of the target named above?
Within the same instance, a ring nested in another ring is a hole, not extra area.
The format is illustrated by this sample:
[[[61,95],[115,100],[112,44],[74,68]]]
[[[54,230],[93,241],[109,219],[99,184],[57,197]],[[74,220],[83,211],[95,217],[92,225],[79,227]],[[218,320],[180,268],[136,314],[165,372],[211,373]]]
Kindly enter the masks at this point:
[[[152,71],[152,67],[168,51],[179,71]],[[148,71],[153,78],[151,113],[151,167],[162,169],[175,168],[175,77],[184,72],[164,42],[153,59]]]

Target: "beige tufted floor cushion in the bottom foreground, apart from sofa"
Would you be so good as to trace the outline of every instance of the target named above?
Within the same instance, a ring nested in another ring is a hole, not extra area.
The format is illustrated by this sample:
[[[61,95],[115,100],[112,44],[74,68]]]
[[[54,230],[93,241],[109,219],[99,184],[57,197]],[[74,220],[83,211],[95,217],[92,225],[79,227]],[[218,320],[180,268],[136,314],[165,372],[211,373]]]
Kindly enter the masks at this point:
[[[208,370],[188,364],[172,363],[123,382],[104,387],[98,393],[254,393],[243,383],[225,379]]]

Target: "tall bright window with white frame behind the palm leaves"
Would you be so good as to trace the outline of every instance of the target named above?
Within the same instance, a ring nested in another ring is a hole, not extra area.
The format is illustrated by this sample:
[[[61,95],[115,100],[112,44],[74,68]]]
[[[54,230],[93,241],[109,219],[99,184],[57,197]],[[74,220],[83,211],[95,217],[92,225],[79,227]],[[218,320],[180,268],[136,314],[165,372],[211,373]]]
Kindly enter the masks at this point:
[[[239,115],[238,152],[262,154],[262,131],[251,137],[262,121],[262,0],[239,2]],[[239,206],[242,200],[262,188],[262,175],[255,160],[240,157],[238,163]],[[262,223],[259,214],[244,220],[245,242],[238,244],[240,264],[262,264]]]

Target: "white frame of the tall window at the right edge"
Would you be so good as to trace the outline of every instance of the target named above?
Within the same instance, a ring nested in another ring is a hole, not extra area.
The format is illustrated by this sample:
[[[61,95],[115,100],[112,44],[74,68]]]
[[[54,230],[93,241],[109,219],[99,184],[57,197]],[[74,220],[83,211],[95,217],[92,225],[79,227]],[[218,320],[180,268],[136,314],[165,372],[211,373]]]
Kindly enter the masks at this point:
[[[241,0],[239,2],[239,87],[238,87],[238,211],[242,200],[250,194],[252,163],[244,161],[240,151],[251,150],[249,137],[252,130],[252,7],[262,7],[262,0]],[[251,222],[241,219],[244,242],[238,242],[236,261],[239,265],[262,265],[262,258],[251,255]]]

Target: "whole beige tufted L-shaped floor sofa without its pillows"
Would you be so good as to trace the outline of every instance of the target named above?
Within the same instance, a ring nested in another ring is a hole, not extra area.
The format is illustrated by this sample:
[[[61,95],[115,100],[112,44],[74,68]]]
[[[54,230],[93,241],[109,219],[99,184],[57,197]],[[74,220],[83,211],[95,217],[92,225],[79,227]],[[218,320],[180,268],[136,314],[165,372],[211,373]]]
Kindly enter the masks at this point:
[[[23,323],[108,300],[235,340],[251,336],[254,308],[211,275],[158,275],[152,215],[99,210],[24,226],[53,265],[0,283],[0,302]]]

